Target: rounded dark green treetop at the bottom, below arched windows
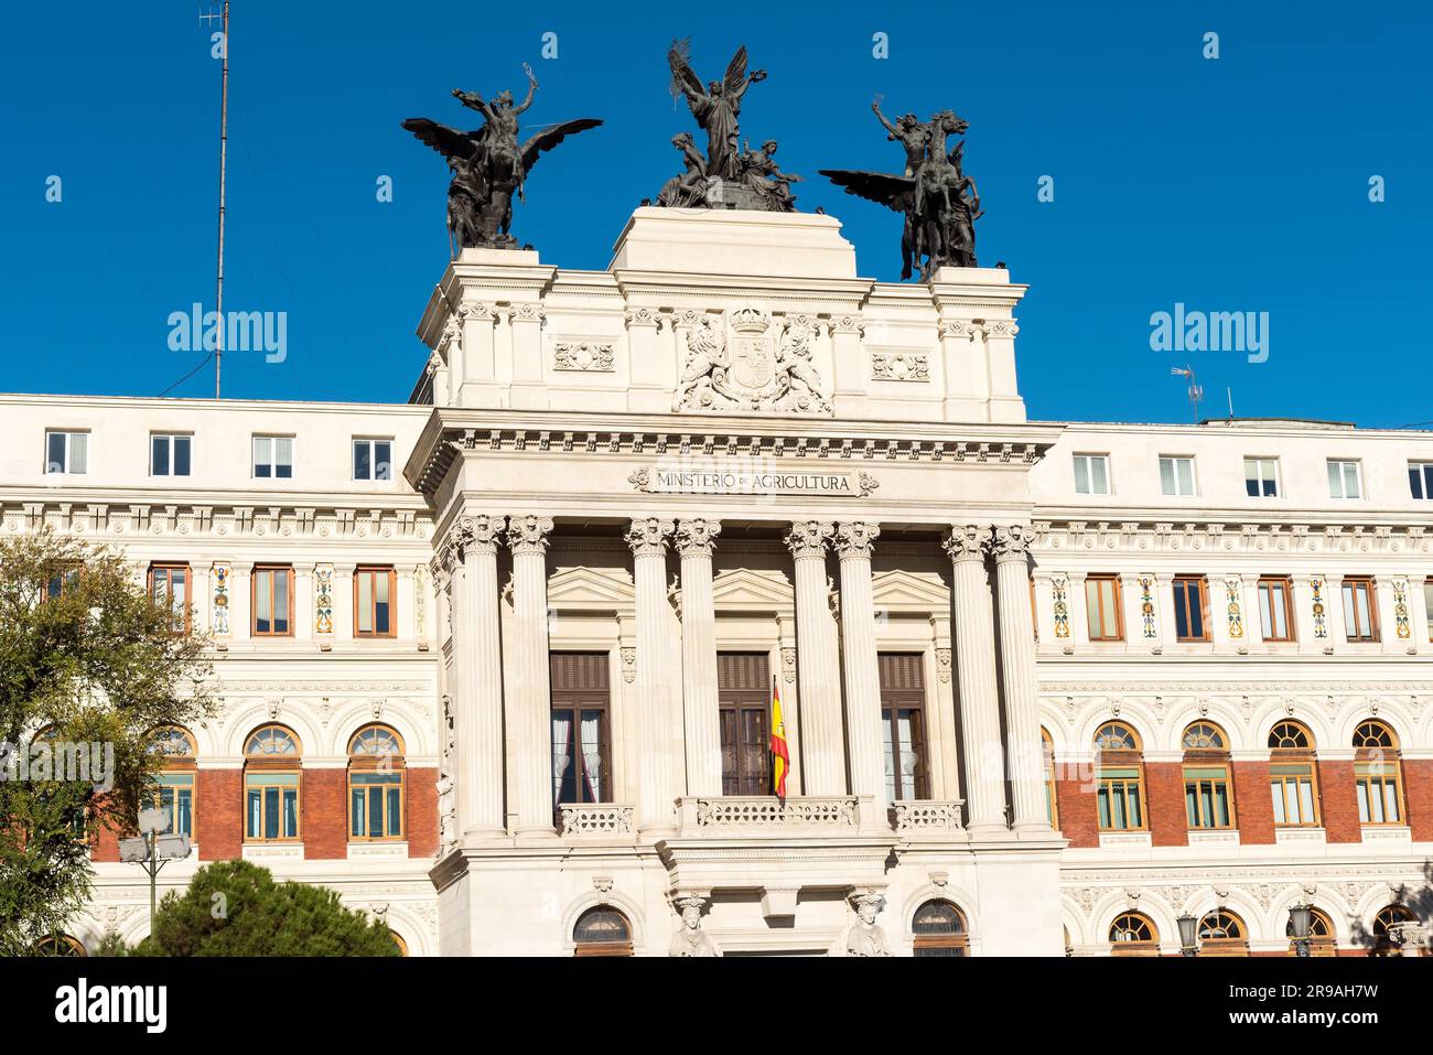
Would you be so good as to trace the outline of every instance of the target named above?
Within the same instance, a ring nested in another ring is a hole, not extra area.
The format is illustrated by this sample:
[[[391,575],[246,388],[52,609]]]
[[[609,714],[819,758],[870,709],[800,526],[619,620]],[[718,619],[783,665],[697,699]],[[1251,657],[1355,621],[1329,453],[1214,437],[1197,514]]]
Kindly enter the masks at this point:
[[[171,890],[135,956],[397,956],[383,923],[345,909],[327,887],[275,883],[249,861],[199,869]]]

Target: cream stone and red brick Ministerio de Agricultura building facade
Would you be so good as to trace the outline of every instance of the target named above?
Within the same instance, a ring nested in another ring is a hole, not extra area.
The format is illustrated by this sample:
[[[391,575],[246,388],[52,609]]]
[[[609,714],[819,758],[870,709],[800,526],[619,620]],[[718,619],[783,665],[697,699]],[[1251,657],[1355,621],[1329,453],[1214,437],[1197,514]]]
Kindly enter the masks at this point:
[[[0,530],[214,635],[163,884],[414,955],[1414,950],[1433,437],[1027,421],[1022,294],[643,208],[605,271],[464,251],[407,404],[4,397]],[[142,936],[95,857],[75,936]]]

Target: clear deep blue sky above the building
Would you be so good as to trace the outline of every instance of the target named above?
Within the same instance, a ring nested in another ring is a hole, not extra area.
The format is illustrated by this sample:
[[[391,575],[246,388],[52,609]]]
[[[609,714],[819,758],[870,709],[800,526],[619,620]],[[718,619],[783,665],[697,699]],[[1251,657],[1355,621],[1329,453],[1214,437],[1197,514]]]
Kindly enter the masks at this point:
[[[407,397],[447,259],[447,173],[398,122],[466,123],[449,90],[520,90],[523,60],[542,80],[532,123],[606,125],[543,159],[514,234],[545,262],[605,267],[631,208],[675,171],[669,138],[694,129],[665,63],[689,36],[702,79],[739,43],[768,70],[742,132],[781,142],[807,176],[801,206],[843,221],[866,275],[898,277],[898,219],[815,171],[898,171],[877,92],[890,113],[970,122],[980,261],[1030,285],[1032,417],[1188,420],[1169,367],[1189,363],[1214,416],[1228,387],[1241,416],[1433,419],[1426,4],[502,7],[234,0],[225,301],[287,311],[288,355],[228,355],[226,396]],[[196,16],[193,0],[7,10],[0,390],[155,396],[202,358],[171,351],[166,324],[214,298],[219,67]],[[1053,202],[1037,201],[1042,176]],[[1176,302],[1268,312],[1268,360],[1152,351],[1149,317]],[[212,394],[212,376],[173,394]]]

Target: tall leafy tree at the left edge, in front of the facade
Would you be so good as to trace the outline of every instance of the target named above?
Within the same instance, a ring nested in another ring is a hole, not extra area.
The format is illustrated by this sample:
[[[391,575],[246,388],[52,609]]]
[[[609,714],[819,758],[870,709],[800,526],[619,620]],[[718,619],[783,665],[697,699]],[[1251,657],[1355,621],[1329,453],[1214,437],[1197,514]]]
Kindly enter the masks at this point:
[[[107,548],[0,539],[0,956],[83,907],[100,829],[132,833],[163,767],[153,731],[212,712],[188,622]]]

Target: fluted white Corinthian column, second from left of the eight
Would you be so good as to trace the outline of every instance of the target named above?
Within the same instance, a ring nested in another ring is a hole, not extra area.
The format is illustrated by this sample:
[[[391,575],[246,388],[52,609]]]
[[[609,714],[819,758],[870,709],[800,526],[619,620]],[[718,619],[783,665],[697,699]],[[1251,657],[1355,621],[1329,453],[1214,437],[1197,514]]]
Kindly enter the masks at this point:
[[[552,685],[547,667],[547,542],[552,520],[513,516],[507,546],[513,552],[513,641],[509,662],[513,698],[507,701],[516,773],[519,834],[553,833]]]

